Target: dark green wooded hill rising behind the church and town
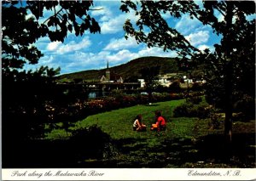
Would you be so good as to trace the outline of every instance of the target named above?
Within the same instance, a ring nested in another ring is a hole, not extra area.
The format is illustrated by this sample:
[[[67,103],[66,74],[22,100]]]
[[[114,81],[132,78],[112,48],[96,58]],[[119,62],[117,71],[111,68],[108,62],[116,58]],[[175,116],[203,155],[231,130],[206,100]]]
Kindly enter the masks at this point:
[[[141,75],[139,70],[143,67],[152,67],[160,65],[160,74],[173,73],[178,71],[177,62],[174,58],[165,57],[141,57],[132,59],[126,64],[110,67],[111,73],[118,74],[123,77],[125,82],[137,81]],[[60,82],[70,82],[74,79],[83,79],[87,82],[98,81],[102,75],[105,75],[106,69],[79,71],[59,76]]]

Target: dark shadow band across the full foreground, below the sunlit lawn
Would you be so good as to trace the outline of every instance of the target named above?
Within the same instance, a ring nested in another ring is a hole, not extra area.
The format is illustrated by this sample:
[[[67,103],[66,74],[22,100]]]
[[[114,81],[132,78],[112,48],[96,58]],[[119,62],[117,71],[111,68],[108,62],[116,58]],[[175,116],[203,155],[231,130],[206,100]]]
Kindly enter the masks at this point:
[[[255,167],[254,133],[234,134],[230,145],[219,134],[197,140],[168,139],[153,147],[146,139],[120,139],[114,144],[119,155],[104,159],[102,146],[93,139],[4,140],[3,168]]]

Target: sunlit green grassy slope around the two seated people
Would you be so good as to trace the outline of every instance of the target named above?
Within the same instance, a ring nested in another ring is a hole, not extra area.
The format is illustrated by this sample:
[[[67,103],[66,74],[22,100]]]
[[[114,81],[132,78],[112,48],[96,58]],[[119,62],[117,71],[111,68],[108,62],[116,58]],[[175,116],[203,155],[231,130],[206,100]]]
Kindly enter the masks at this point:
[[[155,139],[154,133],[149,131],[149,127],[154,122],[154,110],[162,110],[163,116],[166,116],[167,119],[166,139],[177,137],[192,138],[194,136],[193,127],[197,119],[172,117],[173,109],[183,102],[184,100],[173,100],[153,105],[137,105],[130,108],[112,110],[89,116],[84,121],[78,122],[77,127],[97,124],[102,127],[104,132],[110,134],[113,139]],[[146,133],[132,131],[133,119],[138,114],[143,115],[143,123],[148,126],[148,132]]]

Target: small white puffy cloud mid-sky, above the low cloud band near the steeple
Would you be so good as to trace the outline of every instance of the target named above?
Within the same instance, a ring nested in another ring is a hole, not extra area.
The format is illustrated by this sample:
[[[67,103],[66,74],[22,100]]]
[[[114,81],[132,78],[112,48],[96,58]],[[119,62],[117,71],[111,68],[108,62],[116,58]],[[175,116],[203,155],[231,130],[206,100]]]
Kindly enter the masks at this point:
[[[119,50],[124,48],[136,48],[139,45],[137,44],[134,38],[124,38],[120,39],[111,39],[108,45],[103,50]]]

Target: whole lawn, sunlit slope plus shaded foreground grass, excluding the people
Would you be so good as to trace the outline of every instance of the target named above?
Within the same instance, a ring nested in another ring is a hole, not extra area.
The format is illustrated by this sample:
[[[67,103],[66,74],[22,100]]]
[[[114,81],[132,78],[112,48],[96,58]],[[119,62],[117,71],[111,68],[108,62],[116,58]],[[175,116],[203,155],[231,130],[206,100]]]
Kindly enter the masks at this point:
[[[174,108],[184,101],[137,105],[88,116],[70,127],[69,133],[53,130],[47,134],[47,139],[67,139],[76,129],[97,125],[110,135],[116,145],[115,156],[99,162],[104,163],[104,167],[255,167],[255,121],[234,123],[235,155],[228,153],[227,156],[224,154],[223,124],[220,129],[211,130],[207,120],[172,116]],[[157,133],[149,130],[154,122],[154,110],[161,110],[166,117],[166,131]],[[134,117],[138,114],[143,115],[147,132],[132,131]],[[233,156],[230,158],[233,162],[226,161],[229,156]],[[94,161],[81,162],[83,165]]]

